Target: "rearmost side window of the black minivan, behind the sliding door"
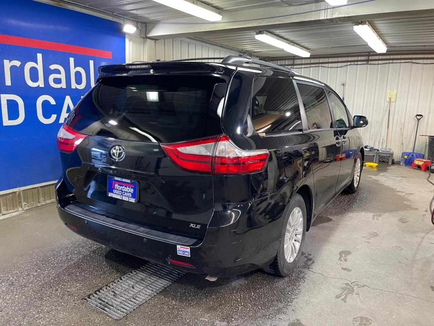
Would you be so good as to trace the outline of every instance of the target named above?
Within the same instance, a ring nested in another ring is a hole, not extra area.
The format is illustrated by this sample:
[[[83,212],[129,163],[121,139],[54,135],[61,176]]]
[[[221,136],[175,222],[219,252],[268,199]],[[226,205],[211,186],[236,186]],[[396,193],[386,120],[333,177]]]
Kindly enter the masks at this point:
[[[257,77],[253,81],[252,122],[259,133],[303,129],[293,81]]]

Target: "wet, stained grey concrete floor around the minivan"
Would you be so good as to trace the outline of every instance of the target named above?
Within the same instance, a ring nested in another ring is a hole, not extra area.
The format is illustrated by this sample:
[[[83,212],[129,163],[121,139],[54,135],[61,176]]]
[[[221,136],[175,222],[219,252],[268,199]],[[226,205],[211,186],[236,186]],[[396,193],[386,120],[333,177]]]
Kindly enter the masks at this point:
[[[0,220],[0,325],[434,325],[427,174],[365,169],[307,233],[285,279],[187,274],[121,321],[81,299],[143,264],[70,232],[53,204]]]

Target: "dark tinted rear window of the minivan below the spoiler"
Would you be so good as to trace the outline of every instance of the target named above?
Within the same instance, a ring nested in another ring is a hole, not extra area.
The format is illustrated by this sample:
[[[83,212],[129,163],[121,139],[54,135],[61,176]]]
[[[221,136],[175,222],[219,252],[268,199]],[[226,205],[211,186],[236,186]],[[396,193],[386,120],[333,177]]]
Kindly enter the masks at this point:
[[[222,133],[226,82],[209,76],[110,77],[101,80],[68,116],[92,136],[178,142]]]

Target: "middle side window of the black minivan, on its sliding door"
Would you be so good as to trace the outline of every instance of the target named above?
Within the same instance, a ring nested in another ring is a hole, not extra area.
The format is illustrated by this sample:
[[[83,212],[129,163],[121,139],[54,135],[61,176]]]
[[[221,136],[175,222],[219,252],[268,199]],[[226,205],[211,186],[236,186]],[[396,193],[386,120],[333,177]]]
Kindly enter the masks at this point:
[[[297,85],[306,111],[309,129],[333,128],[332,115],[324,90],[311,85]]]

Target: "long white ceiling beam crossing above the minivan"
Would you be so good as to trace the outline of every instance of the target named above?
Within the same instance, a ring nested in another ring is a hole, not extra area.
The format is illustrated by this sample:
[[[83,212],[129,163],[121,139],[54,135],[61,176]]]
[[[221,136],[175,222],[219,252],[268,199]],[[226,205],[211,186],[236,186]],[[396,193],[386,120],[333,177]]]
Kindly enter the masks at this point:
[[[429,11],[429,12],[425,12]],[[292,24],[342,23],[375,18],[401,18],[434,13],[434,1],[427,0],[349,0],[344,6],[330,7],[325,2],[304,6],[281,6],[223,12],[217,23],[191,17],[147,23],[146,36],[156,39],[205,37],[209,34],[252,30],[276,30]],[[145,31],[142,36],[145,37]]]

